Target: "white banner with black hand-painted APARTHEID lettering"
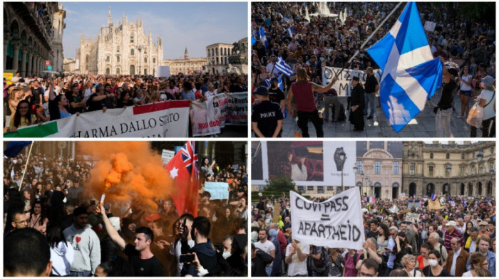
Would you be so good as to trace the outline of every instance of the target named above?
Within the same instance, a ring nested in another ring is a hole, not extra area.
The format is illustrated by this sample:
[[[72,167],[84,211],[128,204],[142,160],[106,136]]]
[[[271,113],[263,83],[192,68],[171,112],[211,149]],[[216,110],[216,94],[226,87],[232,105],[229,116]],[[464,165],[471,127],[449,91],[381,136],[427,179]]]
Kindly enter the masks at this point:
[[[364,238],[359,187],[317,203],[289,191],[294,239],[315,246],[361,250]]]

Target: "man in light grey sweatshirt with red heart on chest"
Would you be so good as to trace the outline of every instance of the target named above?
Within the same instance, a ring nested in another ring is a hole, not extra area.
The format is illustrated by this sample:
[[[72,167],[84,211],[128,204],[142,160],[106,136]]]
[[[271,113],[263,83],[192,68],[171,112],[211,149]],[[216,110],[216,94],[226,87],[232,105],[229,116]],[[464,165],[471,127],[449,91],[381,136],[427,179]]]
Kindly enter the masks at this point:
[[[70,276],[88,276],[101,264],[101,243],[88,224],[88,213],[83,207],[73,211],[73,225],[64,230],[64,238],[73,246],[75,256]]]

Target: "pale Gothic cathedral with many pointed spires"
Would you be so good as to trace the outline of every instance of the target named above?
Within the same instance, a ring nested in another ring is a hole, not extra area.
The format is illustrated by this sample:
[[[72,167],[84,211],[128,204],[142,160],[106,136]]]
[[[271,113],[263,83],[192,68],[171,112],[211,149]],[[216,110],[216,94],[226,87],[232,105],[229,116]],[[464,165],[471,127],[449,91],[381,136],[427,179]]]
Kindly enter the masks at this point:
[[[163,39],[144,33],[142,19],[128,22],[128,15],[121,21],[111,21],[101,27],[97,38],[81,36],[80,48],[76,50],[78,73],[153,75],[154,67],[162,65]]]

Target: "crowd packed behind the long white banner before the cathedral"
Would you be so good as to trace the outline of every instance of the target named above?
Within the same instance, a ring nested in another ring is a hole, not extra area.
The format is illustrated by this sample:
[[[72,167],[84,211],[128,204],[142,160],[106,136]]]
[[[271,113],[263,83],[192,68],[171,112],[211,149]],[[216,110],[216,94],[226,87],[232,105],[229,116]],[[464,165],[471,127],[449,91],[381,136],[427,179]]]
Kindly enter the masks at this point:
[[[247,91],[247,76],[197,73],[152,75],[63,75],[4,78],[4,132],[74,114],[168,100],[207,100],[219,93]],[[29,105],[24,109],[23,104]],[[22,121],[19,121],[21,119]]]

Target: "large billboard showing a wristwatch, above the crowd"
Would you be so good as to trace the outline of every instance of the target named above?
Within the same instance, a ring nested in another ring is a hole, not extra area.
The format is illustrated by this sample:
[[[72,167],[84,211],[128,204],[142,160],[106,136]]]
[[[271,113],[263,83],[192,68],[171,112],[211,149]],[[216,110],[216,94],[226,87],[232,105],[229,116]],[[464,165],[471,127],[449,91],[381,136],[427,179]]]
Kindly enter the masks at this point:
[[[354,186],[355,142],[253,142],[252,184],[290,177],[298,186]]]

